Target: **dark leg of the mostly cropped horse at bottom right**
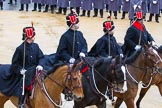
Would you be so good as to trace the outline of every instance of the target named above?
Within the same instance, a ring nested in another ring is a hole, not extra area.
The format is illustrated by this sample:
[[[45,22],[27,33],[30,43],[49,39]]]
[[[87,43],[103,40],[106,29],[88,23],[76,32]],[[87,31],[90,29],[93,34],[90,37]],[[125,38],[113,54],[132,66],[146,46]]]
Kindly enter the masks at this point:
[[[141,89],[139,98],[138,98],[138,100],[136,102],[136,107],[137,108],[140,108],[140,102],[143,99],[143,97],[145,96],[146,92],[149,90],[149,88],[150,87]]]

